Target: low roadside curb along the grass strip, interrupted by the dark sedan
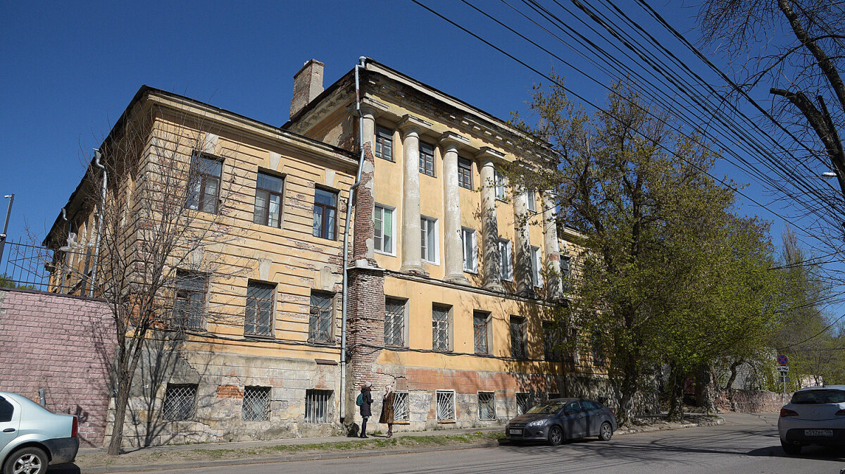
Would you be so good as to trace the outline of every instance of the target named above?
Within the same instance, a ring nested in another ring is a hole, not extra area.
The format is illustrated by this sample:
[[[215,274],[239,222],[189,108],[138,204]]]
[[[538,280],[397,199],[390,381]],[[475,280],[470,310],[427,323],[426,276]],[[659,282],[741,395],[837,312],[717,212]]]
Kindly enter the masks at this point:
[[[684,423],[677,426],[665,426],[656,428],[640,428],[640,429],[625,429],[617,431],[616,435],[635,434],[635,433],[650,433],[655,431],[668,431],[673,429],[683,428],[698,428],[717,426],[724,424],[725,419],[718,417],[711,422],[700,423]],[[352,459],[368,456],[387,456],[387,455],[407,455],[414,453],[436,452],[436,451],[456,451],[461,449],[473,448],[493,448],[499,446],[499,441],[479,443],[479,444],[461,444],[456,446],[439,446],[436,448],[416,448],[416,449],[390,449],[389,451],[352,451],[349,453],[326,453],[316,455],[289,455],[289,456],[274,456],[250,460],[248,458],[232,459],[232,460],[208,460],[208,461],[192,461],[180,462],[173,464],[155,464],[155,465],[134,465],[134,466],[99,466],[91,467],[82,470],[85,474],[112,474],[118,472],[139,472],[139,471],[172,471],[177,469],[195,469],[201,467],[221,467],[221,466],[240,466],[248,464],[271,464],[275,462],[290,462],[297,460],[334,460],[334,459]]]

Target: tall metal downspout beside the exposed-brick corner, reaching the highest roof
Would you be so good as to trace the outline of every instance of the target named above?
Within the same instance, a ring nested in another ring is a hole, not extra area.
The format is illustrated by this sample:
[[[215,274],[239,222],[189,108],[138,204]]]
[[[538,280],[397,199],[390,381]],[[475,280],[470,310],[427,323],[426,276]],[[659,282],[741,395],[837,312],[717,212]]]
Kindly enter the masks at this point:
[[[349,228],[352,219],[352,204],[355,202],[355,189],[361,184],[361,168],[364,162],[364,116],[361,112],[361,83],[358,70],[366,66],[367,57],[358,57],[355,65],[355,110],[358,112],[358,147],[361,157],[358,158],[358,170],[355,173],[355,183],[349,188],[349,202],[346,203],[346,228],[343,231],[343,302],[341,309],[341,422],[346,417],[346,301],[349,295]]]

